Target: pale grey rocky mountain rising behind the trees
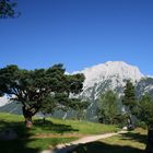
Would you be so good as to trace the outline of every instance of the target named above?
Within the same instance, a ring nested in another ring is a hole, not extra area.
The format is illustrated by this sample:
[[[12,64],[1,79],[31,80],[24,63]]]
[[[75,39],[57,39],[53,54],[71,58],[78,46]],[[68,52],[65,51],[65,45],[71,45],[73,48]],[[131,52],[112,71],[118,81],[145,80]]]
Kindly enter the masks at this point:
[[[145,92],[153,95],[153,78],[145,76],[138,67],[130,66],[123,61],[108,61],[73,73],[83,73],[85,75],[83,92],[79,96],[91,103],[87,109],[89,120],[97,120],[98,96],[107,90],[114,90],[119,95],[122,95],[127,80],[131,80],[134,83],[138,96],[143,95]],[[7,104],[0,107],[0,111],[19,114],[21,113],[21,106],[16,103]],[[72,113],[59,113],[55,116],[69,116],[70,118]]]

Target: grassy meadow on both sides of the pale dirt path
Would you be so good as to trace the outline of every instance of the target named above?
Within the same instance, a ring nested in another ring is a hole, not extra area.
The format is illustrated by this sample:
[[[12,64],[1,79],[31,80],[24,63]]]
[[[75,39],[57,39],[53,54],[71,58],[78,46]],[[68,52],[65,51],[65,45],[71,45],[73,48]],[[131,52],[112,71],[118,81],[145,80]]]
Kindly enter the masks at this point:
[[[39,153],[43,150],[67,143],[81,137],[118,131],[115,126],[102,123],[34,118],[34,127],[25,128],[23,116],[0,113],[0,131],[13,129],[17,132],[16,140],[0,140],[2,153]],[[128,133],[79,145],[71,153],[143,153],[145,149],[146,130],[136,129]]]

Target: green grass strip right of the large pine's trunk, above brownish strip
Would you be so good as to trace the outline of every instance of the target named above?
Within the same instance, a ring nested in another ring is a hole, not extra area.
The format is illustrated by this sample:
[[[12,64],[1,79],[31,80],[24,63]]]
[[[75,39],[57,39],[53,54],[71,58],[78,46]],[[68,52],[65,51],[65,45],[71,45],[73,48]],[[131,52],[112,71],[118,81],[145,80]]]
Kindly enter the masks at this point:
[[[78,121],[78,120],[62,120],[47,118],[46,125],[40,125],[42,120],[35,120],[34,132],[42,133],[52,132],[52,133],[82,133],[82,134],[99,134],[106,132],[118,131],[116,126],[106,126],[102,123],[89,122],[89,121]],[[48,126],[47,126],[48,125]]]

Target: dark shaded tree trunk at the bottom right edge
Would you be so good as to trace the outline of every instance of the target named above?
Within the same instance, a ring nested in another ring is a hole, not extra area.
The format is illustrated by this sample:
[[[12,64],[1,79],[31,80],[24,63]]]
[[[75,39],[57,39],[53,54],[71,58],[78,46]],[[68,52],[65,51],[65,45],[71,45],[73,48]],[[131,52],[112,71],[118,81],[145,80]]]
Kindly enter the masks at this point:
[[[153,129],[148,131],[148,142],[145,148],[146,153],[153,153]]]

